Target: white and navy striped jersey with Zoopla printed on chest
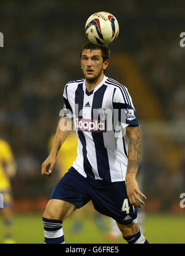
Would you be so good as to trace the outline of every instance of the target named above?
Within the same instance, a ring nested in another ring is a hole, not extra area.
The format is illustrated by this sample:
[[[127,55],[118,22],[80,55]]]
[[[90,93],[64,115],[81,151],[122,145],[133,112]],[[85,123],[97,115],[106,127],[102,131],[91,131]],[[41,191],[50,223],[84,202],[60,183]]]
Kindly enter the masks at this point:
[[[139,126],[127,88],[104,75],[91,92],[86,90],[84,79],[68,82],[63,96],[64,114],[74,117],[78,135],[73,168],[91,179],[125,181],[125,127]]]

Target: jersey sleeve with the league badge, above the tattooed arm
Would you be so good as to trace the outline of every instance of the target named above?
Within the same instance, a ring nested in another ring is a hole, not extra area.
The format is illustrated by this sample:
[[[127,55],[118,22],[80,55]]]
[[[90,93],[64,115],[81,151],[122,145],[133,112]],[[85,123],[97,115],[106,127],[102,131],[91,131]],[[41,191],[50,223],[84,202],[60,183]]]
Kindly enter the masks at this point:
[[[123,127],[139,126],[136,110],[126,87],[122,86],[115,89],[113,109],[118,109],[117,111],[115,110],[115,114],[117,113],[118,121],[121,122]]]

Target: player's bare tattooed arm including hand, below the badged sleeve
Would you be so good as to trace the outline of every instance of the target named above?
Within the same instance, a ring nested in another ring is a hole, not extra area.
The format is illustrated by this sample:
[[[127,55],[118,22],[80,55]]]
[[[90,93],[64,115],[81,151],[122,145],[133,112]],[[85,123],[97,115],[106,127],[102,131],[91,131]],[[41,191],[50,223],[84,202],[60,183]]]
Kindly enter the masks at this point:
[[[127,126],[126,135],[128,137],[128,166],[126,171],[126,192],[131,205],[141,208],[144,202],[138,197],[146,199],[146,196],[138,188],[136,174],[138,173],[141,158],[141,134],[139,126]],[[138,201],[138,202],[137,202]]]

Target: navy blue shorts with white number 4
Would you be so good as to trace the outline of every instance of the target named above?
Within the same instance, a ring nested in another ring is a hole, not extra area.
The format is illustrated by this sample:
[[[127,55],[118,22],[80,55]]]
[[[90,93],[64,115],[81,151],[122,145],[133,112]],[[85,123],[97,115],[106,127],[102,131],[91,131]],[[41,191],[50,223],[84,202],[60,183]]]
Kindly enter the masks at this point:
[[[92,200],[94,208],[120,224],[137,222],[137,208],[130,204],[125,181],[108,182],[83,177],[71,167],[52,191],[50,199],[74,203],[83,207]]]

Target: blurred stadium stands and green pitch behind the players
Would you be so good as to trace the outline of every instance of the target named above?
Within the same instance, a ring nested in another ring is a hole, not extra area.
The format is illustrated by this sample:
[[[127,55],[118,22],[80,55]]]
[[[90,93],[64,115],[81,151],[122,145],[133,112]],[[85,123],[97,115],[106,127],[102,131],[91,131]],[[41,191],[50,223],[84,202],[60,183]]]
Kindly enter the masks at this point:
[[[120,25],[107,75],[128,87],[141,124],[147,239],[185,242],[185,208],[179,206],[185,192],[185,48],[179,46],[184,10],[183,1],[1,2],[0,137],[10,143],[18,166],[12,179],[18,243],[43,242],[41,216],[57,178],[44,179],[41,163],[63,107],[65,83],[83,77],[84,24],[96,11],[111,12]],[[70,233],[71,225],[69,218],[68,243],[110,242],[91,215],[80,233]]]

